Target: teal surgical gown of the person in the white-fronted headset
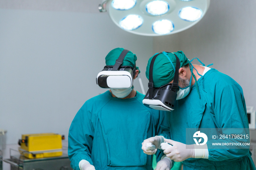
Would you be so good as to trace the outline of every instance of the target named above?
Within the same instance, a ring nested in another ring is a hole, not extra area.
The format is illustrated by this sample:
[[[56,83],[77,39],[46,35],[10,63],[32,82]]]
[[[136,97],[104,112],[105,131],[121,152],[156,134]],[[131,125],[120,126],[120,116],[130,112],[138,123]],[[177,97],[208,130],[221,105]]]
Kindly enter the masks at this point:
[[[153,156],[143,153],[142,142],[168,130],[169,123],[165,113],[145,107],[143,98],[137,92],[120,99],[107,91],[87,100],[69,128],[71,167],[79,170],[85,159],[96,170],[152,170]]]

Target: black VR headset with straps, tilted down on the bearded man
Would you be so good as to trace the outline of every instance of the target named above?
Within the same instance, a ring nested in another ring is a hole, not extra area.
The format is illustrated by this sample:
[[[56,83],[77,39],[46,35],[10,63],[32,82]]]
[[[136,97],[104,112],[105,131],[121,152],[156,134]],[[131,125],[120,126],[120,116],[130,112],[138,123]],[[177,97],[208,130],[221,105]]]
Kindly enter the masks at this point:
[[[161,53],[159,53],[161,54]],[[180,59],[176,57],[176,69],[174,73],[173,83],[168,83],[159,88],[154,88],[153,84],[153,65],[155,59],[159,55],[155,55],[150,63],[149,67],[149,83],[148,91],[144,97],[142,103],[152,109],[162,110],[162,111],[172,111],[174,110],[178,87],[178,73],[180,69]]]

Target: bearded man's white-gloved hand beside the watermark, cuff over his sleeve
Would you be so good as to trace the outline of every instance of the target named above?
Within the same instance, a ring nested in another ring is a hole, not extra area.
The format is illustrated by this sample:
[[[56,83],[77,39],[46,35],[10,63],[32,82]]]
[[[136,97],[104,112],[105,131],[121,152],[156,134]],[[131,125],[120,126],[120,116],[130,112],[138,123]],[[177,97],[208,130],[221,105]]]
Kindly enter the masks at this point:
[[[176,142],[171,139],[164,139],[165,142],[170,143],[172,146],[163,151],[166,157],[174,160],[175,162],[181,162],[188,158],[195,158],[194,145],[186,145],[181,142]]]

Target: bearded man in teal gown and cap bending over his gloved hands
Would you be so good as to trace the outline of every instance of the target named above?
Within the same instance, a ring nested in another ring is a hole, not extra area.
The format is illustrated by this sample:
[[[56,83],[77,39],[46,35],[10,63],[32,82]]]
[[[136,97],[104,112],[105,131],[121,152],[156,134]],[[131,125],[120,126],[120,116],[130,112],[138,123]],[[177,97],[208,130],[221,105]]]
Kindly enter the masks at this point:
[[[148,142],[155,144],[156,148],[161,148],[161,143],[167,142],[172,146],[163,152],[173,161],[183,161],[184,170],[255,170],[248,147],[214,149],[211,143],[206,143],[197,149],[196,144],[186,143],[186,129],[248,130],[248,118],[241,86],[231,77],[204,66],[202,62],[203,65],[191,64],[182,51],[163,52],[155,59],[153,66],[155,88],[173,82],[176,66],[174,54],[180,59],[178,77],[180,89],[177,92],[175,109],[169,112],[170,129],[159,136],[144,140],[142,143],[144,153],[150,155],[157,151],[157,149],[146,150],[145,144]],[[148,60],[147,78],[149,78],[152,58]],[[208,140],[210,137],[208,136]]]

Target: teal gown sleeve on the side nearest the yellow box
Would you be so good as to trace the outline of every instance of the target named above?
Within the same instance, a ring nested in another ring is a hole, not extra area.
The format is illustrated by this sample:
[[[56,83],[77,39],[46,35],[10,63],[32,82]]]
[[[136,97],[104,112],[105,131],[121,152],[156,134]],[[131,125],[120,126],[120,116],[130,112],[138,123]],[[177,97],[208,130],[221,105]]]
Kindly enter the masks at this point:
[[[91,150],[94,130],[91,123],[91,109],[88,105],[87,101],[82,108],[80,108],[69,128],[68,157],[71,161],[71,167],[74,170],[80,170],[78,165],[82,159],[85,159],[93,165]]]

